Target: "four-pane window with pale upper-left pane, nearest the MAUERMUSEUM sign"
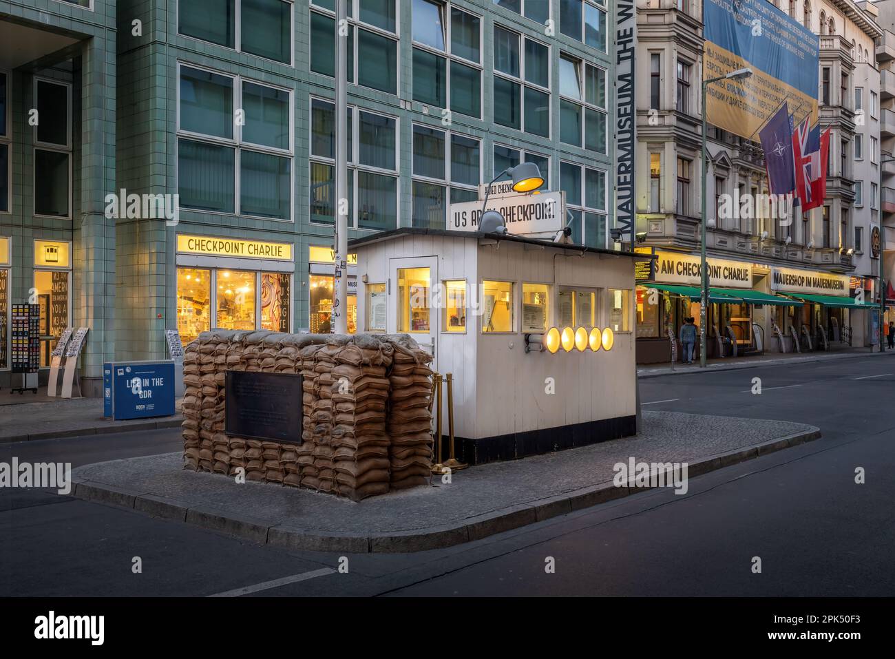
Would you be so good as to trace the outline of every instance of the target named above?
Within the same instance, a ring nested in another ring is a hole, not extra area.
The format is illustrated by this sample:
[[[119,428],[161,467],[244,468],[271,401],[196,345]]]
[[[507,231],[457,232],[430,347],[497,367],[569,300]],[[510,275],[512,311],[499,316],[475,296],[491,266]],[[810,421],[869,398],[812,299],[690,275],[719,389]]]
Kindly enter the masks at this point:
[[[606,72],[559,56],[559,141],[606,153]]]

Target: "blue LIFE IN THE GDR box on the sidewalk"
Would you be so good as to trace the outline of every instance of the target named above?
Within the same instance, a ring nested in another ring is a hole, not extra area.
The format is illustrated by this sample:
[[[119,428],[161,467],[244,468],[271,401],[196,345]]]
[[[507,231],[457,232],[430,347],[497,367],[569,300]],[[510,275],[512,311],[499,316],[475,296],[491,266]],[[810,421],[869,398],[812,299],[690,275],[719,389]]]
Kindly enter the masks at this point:
[[[104,414],[116,421],[174,415],[174,362],[107,362],[103,394]]]

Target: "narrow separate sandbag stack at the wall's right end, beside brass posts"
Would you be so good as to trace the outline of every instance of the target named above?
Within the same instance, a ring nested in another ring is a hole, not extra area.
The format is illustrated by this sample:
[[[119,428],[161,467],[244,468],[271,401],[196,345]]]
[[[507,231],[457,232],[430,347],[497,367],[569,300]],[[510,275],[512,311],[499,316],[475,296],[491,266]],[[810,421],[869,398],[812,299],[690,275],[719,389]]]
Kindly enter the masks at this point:
[[[405,340],[396,341],[388,372],[390,485],[402,490],[429,481],[432,466],[432,355]]]

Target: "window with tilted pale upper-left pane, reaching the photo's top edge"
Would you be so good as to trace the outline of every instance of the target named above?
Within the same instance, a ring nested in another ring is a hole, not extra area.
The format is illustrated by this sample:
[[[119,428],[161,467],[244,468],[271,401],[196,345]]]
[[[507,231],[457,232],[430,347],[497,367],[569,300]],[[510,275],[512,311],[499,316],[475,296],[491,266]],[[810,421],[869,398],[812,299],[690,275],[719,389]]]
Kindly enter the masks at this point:
[[[480,25],[447,4],[413,0],[413,100],[482,116]]]

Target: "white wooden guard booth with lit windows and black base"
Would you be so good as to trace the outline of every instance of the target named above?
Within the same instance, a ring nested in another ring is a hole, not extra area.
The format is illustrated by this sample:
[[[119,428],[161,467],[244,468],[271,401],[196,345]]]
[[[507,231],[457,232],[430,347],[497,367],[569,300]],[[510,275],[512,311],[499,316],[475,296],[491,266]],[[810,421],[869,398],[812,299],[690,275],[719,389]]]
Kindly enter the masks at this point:
[[[643,254],[409,227],[349,248],[358,330],[406,332],[434,355],[436,372],[453,373],[460,460],[635,434],[633,295]],[[568,340],[575,331],[577,346]],[[543,347],[545,334],[555,353]]]

